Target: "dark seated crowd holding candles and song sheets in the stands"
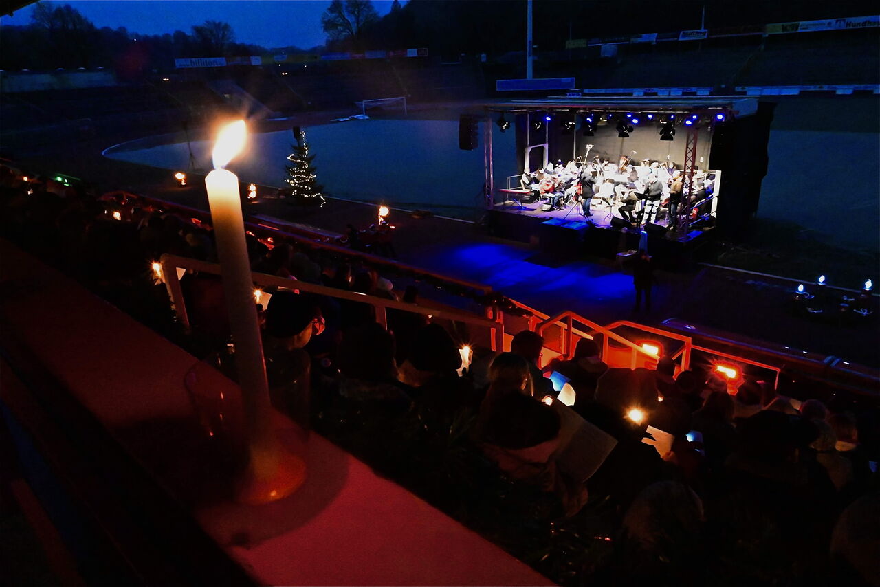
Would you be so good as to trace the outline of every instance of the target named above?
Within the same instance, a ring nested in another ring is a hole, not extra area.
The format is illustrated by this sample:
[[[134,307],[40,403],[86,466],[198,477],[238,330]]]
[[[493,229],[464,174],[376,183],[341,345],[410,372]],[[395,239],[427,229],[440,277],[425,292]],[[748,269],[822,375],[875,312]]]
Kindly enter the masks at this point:
[[[218,278],[182,278],[184,334],[150,270],[163,253],[216,260],[206,225],[0,167],[0,236],[202,356],[229,341]],[[260,305],[275,407],[555,582],[880,585],[876,403],[801,403],[669,357],[609,368],[589,338],[543,365],[528,330],[465,365],[464,325],[389,310],[383,327],[372,305],[295,283],[419,305],[414,287],[248,244],[254,271],[291,280]]]

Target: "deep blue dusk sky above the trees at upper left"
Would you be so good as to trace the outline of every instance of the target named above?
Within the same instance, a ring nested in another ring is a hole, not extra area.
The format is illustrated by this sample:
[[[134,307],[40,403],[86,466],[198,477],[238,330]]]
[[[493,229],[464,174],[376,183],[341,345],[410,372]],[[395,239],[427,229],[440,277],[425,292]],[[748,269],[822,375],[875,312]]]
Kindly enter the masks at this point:
[[[329,0],[71,0],[70,4],[95,26],[117,28],[144,34],[190,32],[205,20],[228,22],[240,43],[266,48],[296,45],[312,48],[324,44],[321,14]],[[379,15],[391,10],[391,0],[375,0]],[[406,3],[401,3],[406,4]],[[31,23],[33,4],[11,17],[0,18],[2,25]]]

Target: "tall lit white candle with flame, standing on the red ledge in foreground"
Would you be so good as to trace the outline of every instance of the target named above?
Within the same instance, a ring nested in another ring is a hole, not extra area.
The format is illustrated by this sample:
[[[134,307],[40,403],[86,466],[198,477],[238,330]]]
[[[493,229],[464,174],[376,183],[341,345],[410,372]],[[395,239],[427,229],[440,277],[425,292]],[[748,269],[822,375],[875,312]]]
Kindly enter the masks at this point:
[[[305,466],[302,459],[284,451],[275,442],[271,429],[272,407],[254,304],[253,276],[247,257],[238,177],[224,169],[244,147],[246,135],[244,121],[232,122],[221,129],[213,152],[214,171],[205,178],[205,187],[249,441],[250,462],[238,498],[246,503],[267,503],[296,491],[305,480]]]

